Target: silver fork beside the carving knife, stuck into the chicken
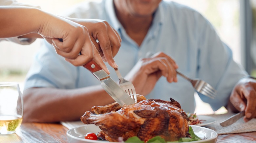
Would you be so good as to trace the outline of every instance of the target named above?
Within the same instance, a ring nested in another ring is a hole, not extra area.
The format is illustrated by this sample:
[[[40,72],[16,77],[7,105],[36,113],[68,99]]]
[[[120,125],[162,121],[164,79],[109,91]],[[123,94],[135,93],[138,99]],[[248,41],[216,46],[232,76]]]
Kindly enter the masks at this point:
[[[135,102],[137,103],[137,96],[136,96],[136,91],[135,91],[135,87],[133,86],[133,84],[124,79],[121,76],[121,73],[118,71],[118,69],[115,69],[116,73],[117,73],[117,77],[119,78],[119,85],[121,88],[123,88],[123,90],[129,95],[131,96],[132,99],[135,100]]]

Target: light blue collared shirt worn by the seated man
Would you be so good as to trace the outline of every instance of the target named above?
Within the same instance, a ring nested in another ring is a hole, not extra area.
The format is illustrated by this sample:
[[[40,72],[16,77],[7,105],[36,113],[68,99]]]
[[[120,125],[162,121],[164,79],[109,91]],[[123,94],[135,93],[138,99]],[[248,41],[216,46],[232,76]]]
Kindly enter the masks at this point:
[[[232,88],[237,81],[247,75],[245,70],[232,59],[232,52],[217,35],[213,26],[197,11],[175,2],[162,1],[155,13],[153,23],[141,46],[132,40],[118,22],[113,1],[83,3],[68,10],[70,17],[103,19],[119,33],[122,43],[115,61],[119,71],[125,76],[140,58],[148,52],[162,51],[171,56],[179,70],[191,78],[199,78],[217,90],[213,100],[200,98],[211,105],[213,110],[226,105]],[[110,76],[118,81],[109,65]],[[27,75],[25,88],[55,87],[81,88],[99,85],[96,77],[83,67],[75,67],[58,56],[52,45],[45,42],[35,56],[35,61]],[[185,112],[195,109],[194,88],[191,83],[178,76],[177,83],[168,83],[161,77],[147,99],[173,98],[181,104]]]

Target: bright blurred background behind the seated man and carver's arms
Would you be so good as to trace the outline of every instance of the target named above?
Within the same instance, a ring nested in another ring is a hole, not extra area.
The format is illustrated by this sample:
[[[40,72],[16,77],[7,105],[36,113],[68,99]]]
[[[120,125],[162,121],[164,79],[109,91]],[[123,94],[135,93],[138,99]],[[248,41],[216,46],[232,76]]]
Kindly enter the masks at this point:
[[[42,10],[59,14],[82,1],[90,0],[17,0],[40,6]],[[95,1],[95,0],[94,0]],[[100,1],[100,0],[98,0]],[[234,60],[251,75],[256,75],[256,0],[171,0],[198,10],[215,27],[221,39],[232,49]],[[40,39],[31,45],[0,42],[0,82],[18,82],[21,90],[26,73],[40,48]],[[212,114],[212,110],[196,96],[199,114]],[[204,110],[201,110],[204,109]],[[209,112],[210,111],[210,112]],[[225,112],[220,109],[216,112]]]

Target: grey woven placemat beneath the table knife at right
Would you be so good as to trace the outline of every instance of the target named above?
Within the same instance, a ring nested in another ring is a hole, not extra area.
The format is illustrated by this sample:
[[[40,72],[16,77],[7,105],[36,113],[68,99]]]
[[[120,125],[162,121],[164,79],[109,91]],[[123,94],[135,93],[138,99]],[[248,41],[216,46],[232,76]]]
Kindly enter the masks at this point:
[[[235,115],[234,113],[226,113],[220,115],[207,115],[216,119],[216,122],[210,125],[206,125],[204,127],[212,129],[217,132],[218,135],[224,134],[237,134],[237,133],[248,133],[248,132],[256,132],[256,119],[251,119],[248,122],[245,122],[243,117],[237,120],[235,123],[222,127],[220,122],[225,119]]]

